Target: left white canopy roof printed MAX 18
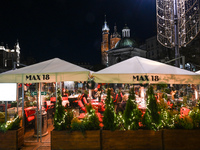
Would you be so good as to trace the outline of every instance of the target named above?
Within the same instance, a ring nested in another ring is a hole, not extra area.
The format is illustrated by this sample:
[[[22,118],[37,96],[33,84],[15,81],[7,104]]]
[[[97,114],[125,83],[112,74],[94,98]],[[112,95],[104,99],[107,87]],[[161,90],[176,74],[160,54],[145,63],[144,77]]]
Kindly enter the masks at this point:
[[[0,74],[0,83],[87,81],[90,70],[59,58]]]

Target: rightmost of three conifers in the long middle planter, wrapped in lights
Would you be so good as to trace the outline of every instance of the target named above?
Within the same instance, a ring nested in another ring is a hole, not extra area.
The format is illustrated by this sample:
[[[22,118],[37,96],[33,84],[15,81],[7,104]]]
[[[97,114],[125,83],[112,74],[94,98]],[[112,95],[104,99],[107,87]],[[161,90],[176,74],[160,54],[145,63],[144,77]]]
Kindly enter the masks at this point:
[[[147,109],[143,116],[142,123],[147,129],[159,130],[161,127],[161,119],[158,113],[157,101],[152,86],[148,88],[147,94]]]

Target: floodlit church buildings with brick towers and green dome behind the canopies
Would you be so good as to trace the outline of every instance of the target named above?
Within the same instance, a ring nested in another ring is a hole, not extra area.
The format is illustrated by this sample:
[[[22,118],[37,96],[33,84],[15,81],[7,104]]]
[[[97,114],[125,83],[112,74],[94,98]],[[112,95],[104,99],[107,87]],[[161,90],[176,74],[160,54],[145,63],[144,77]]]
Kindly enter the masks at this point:
[[[117,32],[116,24],[114,26],[114,32],[110,37],[109,31],[110,29],[105,21],[102,28],[101,43],[103,65],[111,66],[134,56],[146,57],[146,50],[138,48],[135,40],[130,37],[130,29],[127,25],[122,29],[122,37]]]

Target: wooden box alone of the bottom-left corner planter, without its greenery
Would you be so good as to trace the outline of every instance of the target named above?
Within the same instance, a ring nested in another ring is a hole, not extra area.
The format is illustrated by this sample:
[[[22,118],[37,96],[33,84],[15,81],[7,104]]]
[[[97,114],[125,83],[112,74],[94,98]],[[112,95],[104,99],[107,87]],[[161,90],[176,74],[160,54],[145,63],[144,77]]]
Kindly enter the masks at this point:
[[[19,149],[24,144],[24,128],[0,132],[0,149]]]

